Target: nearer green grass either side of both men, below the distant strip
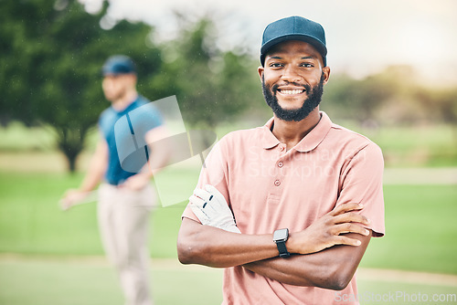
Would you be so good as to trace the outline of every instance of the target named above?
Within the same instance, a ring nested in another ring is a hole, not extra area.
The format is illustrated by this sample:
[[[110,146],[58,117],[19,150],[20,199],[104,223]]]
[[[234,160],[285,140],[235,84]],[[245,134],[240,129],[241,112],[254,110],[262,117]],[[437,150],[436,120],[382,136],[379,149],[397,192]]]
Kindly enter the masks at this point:
[[[170,179],[173,184],[181,177],[176,192],[187,192],[186,184],[195,184],[194,175],[193,171],[181,170],[165,177],[165,182]],[[65,213],[58,209],[62,192],[78,185],[80,179],[81,174],[0,173],[0,252],[14,253],[12,258],[0,254],[0,304],[122,303],[112,267],[101,258],[87,258],[102,255],[95,204],[80,205]],[[455,185],[387,185],[385,199],[387,235],[372,239],[361,267],[457,274]],[[152,216],[155,303],[218,304],[221,270],[180,266],[175,261],[183,209],[184,203],[170,205],[157,209]],[[175,263],[160,258],[171,258]],[[431,297],[456,293],[452,286],[404,283],[401,279],[357,282],[362,304],[367,305],[383,303],[370,298],[389,294]],[[394,303],[410,304],[401,298]]]

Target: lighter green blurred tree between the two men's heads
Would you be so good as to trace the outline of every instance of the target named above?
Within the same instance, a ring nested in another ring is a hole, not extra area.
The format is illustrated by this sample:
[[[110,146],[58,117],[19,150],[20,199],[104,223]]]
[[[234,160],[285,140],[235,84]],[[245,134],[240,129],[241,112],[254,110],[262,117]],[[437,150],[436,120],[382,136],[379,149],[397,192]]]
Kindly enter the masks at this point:
[[[172,58],[166,70],[168,78],[173,78],[168,84],[174,84],[184,120],[212,128],[259,102],[260,86],[252,78],[256,66],[248,54],[240,49],[219,49],[210,17],[201,17],[196,23],[186,14],[176,12],[175,17],[181,26],[175,40],[165,46]]]

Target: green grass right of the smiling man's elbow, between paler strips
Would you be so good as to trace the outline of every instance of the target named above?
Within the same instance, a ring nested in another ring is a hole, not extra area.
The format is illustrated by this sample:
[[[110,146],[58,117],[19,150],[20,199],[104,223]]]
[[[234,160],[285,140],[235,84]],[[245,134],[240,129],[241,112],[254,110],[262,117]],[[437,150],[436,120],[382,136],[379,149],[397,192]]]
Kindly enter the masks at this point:
[[[386,236],[372,239],[361,266],[457,274],[457,187],[384,189]]]

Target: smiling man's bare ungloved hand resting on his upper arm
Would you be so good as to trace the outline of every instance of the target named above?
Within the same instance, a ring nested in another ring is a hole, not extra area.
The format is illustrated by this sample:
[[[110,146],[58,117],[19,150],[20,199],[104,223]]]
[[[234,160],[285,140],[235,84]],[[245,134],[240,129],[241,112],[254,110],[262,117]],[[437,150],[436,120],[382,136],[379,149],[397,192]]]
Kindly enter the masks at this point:
[[[310,254],[335,245],[360,246],[355,238],[345,237],[345,233],[357,233],[368,236],[370,231],[361,225],[369,225],[367,217],[354,211],[363,209],[363,205],[344,204],[308,226],[301,232],[292,233],[286,246],[291,253]],[[356,224],[358,223],[358,224]]]

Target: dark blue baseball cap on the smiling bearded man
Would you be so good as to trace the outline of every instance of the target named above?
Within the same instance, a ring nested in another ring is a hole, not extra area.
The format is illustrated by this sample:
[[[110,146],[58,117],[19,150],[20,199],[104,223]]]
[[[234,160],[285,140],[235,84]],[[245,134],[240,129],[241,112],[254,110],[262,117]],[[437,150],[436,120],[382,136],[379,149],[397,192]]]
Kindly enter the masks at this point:
[[[265,56],[271,47],[288,40],[301,40],[313,45],[322,55],[326,66],[327,47],[325,47],[324,27],[301,16],[283,18],[265,27],[260,47],[261,65],[264,65]]]

